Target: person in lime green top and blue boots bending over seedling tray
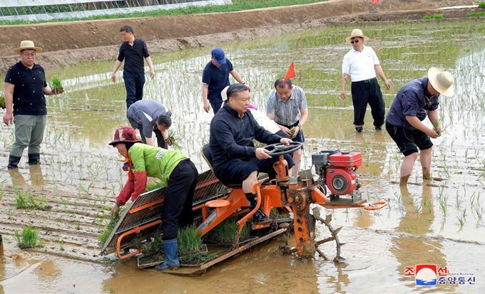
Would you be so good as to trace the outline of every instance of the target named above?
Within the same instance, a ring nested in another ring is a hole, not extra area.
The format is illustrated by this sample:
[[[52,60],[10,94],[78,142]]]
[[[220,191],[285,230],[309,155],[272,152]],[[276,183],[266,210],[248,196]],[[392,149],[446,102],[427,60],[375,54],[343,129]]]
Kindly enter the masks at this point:
[[[111,215],[116,216],[120,206],[130,197],[131,201],[135,201],[145,191],[147,177],[160,179],[166,187],[161,216],[165,262],[157,266],[156,270],[180,268],[177,224],[181,227],[193,224],[192,201],[198,180],[195,165],[180,151],[141,144],[133,127],[120,127],[115,130],[109,145],[116,147],[125,157],[123,169],[128,171],[128,182],[116,197]]]

